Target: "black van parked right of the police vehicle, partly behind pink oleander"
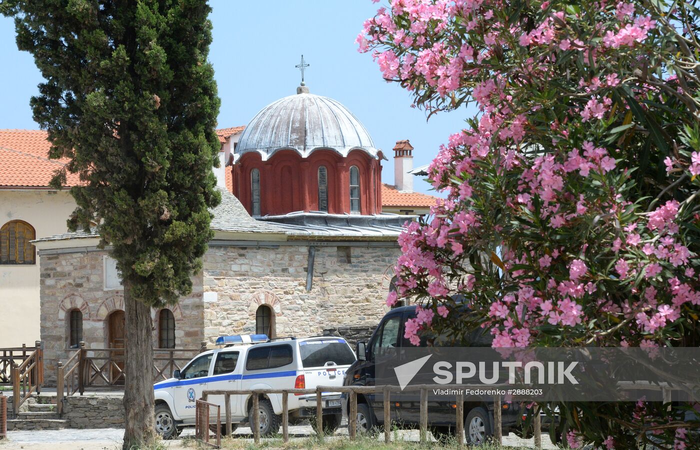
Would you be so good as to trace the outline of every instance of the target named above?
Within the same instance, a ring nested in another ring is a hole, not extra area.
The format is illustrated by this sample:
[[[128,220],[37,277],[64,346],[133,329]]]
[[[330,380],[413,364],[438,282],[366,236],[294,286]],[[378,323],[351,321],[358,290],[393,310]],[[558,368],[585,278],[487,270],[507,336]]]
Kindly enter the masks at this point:
[[[377,330],[369,342],[358,342],[358,360],[351,365],[343,380],[343,386],[374,386],[374,355],[382,347],[408,347],[412,344],[404,337],[404,324],[416,317],[416,307],[400,307],[392,309],[379,322]],[[489,345],[486,342],[476,345]],[[421,339],[421,345],[426,339]],[[358,430],[371,433],[373,429],[384,424],[384,399],[381,393],[358,394],[357,419]],[[342,398],[345,412],[349,411],[347,395]],[[503,435],[518,432],[519,407],[503,403],[501,407]],[[482,444],[493,435],[493,402],[465,402],[464,432],[466,442],[472,445]],[[391,393],[391,421],[400,428],[419,428],[420,424],[420,394],[417,391]],[[455,403],[449,400],[428,401],[428,426],[436,438],[454,435],[456,430]],[[519,433],[520,434],[520,433]]]

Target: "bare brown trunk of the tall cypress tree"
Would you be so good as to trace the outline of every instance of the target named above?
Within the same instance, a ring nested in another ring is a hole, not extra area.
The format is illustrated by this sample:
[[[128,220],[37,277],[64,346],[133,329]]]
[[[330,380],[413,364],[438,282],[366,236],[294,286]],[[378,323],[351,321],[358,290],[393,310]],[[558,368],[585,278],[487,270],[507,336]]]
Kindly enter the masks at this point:
[[[126,313],[125,430],[123,450],[150,447],[157,440],[153,418],[153,328],[151,308],[129,293]]]

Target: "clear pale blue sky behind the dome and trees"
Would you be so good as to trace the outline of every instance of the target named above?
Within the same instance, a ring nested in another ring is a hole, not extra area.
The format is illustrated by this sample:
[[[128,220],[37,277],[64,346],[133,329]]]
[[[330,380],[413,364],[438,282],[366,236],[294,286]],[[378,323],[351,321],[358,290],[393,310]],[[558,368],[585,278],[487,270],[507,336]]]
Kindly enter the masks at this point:
[[[300,56],[311,64],[306,83],[314,94],[337,99],[363,122],[389,161],[382,178],[393,183],[398,139],[410,139],[414,165],[428,164],[449,134],[463,127],[470,111],[430,118],[411,108],[409,92],[386,83],[370,54],[357,51],[355,36],[381,3],[370,0],[212,0],[213,37],[209,59],[216,70],[221,112],[218,126],[245,125],[263,106],[294,94]],[[263,5],[265,6],[263,8]],[[36,129],[29,97],[41,82],[34,60],[15,45],[13,21],[0,16],[0,128]],[[414,188],[429,192],[416,178]]]

